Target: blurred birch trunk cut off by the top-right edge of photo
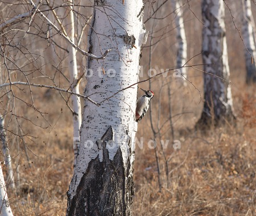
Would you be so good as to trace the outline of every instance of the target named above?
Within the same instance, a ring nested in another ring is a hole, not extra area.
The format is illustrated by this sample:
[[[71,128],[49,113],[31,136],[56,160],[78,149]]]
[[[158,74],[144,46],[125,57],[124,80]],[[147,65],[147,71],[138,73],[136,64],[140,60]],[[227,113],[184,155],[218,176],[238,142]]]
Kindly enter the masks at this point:
[[[256,82],[256,48],[255,48],[255,35],[254,35],[254,18],[251,12],[251,2],[249,0],[243,1],[243,41],[247,50],[245,49],[246,60],[246,83]]]

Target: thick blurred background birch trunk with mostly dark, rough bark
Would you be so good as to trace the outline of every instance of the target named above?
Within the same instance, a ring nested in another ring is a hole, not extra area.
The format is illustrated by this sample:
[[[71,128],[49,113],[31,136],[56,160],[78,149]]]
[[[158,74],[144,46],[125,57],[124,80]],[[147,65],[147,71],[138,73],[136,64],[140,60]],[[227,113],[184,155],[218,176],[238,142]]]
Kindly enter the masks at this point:
[[[229,83],[224,2],[203,0],[204,108],[198,122],[201,126],[233,121],[233,103]],[[213,74],[213,75],[211,75]],[[218,77],[216,77],[218,76]]]

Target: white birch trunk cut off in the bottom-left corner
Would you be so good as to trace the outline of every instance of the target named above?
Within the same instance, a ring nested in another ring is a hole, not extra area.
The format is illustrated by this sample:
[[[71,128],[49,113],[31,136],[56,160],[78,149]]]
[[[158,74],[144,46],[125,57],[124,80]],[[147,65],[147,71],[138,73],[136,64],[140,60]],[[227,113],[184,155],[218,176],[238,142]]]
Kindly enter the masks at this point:
[[[13,212],[11,211],[11,207],[10,207],[7,192],[6,192],[6,185],[5,185],[5,179],[3,177],[2,164],[4,164],[4,162],[0,163],[0,215],[13,216]]]

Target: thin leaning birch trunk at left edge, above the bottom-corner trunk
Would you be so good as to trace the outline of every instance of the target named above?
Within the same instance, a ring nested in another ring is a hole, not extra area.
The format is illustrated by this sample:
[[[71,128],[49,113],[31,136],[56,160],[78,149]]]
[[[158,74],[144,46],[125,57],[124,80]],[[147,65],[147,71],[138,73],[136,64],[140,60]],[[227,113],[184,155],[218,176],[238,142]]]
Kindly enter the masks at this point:
[[[15,189],[13,166],[11,162],[11,155],[9,147],[6,142],[5,119],[0,114],[0,142],[2,143],[2,153],[5,156],[5,166],[7,167],[8,177],[7,181],[10,182],[10,188]]]

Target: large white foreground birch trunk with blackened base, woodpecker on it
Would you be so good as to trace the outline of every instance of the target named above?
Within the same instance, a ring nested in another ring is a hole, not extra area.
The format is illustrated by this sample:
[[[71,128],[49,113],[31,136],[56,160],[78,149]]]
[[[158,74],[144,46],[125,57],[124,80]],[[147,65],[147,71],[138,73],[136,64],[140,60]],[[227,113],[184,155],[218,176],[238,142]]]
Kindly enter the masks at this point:
[[[69,185],[67,215],[131,215],[137,122],[134,112],[143,29],[142,0],[96,1],[89,34],[88,83],[77,163]],[[112,97],[111,97],[112,96]]]

